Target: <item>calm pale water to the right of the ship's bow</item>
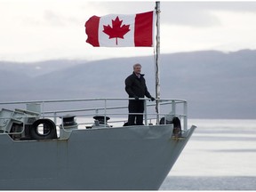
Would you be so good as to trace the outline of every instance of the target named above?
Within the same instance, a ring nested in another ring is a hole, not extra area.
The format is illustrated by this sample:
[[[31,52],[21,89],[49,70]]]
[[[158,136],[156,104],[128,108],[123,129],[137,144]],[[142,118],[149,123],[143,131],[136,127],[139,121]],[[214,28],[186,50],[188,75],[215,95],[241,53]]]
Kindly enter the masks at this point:
[[[256,190],[256,120],[188,124],[196,131],[160,190]]]

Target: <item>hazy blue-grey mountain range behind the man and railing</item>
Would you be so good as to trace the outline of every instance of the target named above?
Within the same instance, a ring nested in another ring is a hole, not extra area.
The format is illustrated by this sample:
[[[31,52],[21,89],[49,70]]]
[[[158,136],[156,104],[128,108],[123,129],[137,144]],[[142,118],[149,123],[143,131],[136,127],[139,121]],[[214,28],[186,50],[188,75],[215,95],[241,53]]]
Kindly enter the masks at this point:
[[[256,117],[256,51],[177,52],[160,56],[162,99],[188,100],[190,118]],[[155,93],[154,56],[108,60],[0,61],[0,102],[126,98],[124,79],[140,63]]]

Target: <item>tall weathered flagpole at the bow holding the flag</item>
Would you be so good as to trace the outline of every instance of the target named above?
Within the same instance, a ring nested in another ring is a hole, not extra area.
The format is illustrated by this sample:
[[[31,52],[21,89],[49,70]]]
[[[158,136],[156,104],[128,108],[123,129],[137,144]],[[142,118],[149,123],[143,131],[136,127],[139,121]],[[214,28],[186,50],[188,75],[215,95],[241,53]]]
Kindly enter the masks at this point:
[[[156,1],[156,124],[159,124],[159,99],[160,99],[160,79],[159,79],[159,56],[160,56],[160,2]]]

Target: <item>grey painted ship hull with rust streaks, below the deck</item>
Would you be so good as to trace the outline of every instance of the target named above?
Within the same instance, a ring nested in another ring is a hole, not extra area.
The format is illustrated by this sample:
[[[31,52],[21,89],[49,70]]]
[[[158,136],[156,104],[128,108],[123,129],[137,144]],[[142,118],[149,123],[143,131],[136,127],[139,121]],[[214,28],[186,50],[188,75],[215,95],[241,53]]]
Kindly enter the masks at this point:
[[[0,134],[1,189],[158,189],[192,132],[172,124],[73,130],[68,140]]]

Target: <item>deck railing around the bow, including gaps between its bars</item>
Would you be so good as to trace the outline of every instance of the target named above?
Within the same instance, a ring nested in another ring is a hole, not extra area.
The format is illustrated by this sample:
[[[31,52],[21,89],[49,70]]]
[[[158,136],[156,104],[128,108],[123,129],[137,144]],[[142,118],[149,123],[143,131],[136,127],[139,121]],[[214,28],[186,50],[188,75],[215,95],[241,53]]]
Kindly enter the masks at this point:
[[[38,118],[52,118],[53,122],[63,124],[63,117],[76,116],[77,124],[79,128],[83,128],[86,125],[93,124],[93,116],[104,116],[104,124],[116,124],[116,126],[122,126],[128,119],[128,100],[127,98],[98,98],[98,99],[76,99],[76,100],[29,100],[29,101],[13,101],[13,102],[0,102],[0,130],[1,124],[8,118],[16,119],[24,117],[23,112],[26,113],[26,118],[35,117]],[[143,114],[144,124],[156,124],[156,101],[144,100],[145,108]],[[8,116],[3,113],[3,108],[8,108],[12,112]],[[17,109],[21,108],[21,109]],[[22,109],[25,108],[25,109]],[[159,100],[159,113],[161,118],[170,118],[178,116],[180,118],[182,130],[187,130],[188,120],[188,106],[186,100],[172,100],[161,99]],[[2,113],[1,113],[2,112]],[[19,113],[20,112],[20,113]],[[2,115],[1,115],[2,114]],[[19,116],[20,114],[20,116]],[[136,115],[136,114],[133,114]],[[15,116],[15,117],[13,117]],[[107,117],[111,120],[107,122]],[[26,119],[25,118],[25,119]],[[92,119],[92,121],[90,120]],[[113,126],[114,126],[113,125]],[[24,124],[23,124],[24,126]],[[112,126],[112,125],[111,125]],[[24,127],[23,127],[24,128]],[[3,128],[2,128],[3,130]],[[4,130],[2,131],[4,132]],[[5,130],[6,132],[6,130]]]

